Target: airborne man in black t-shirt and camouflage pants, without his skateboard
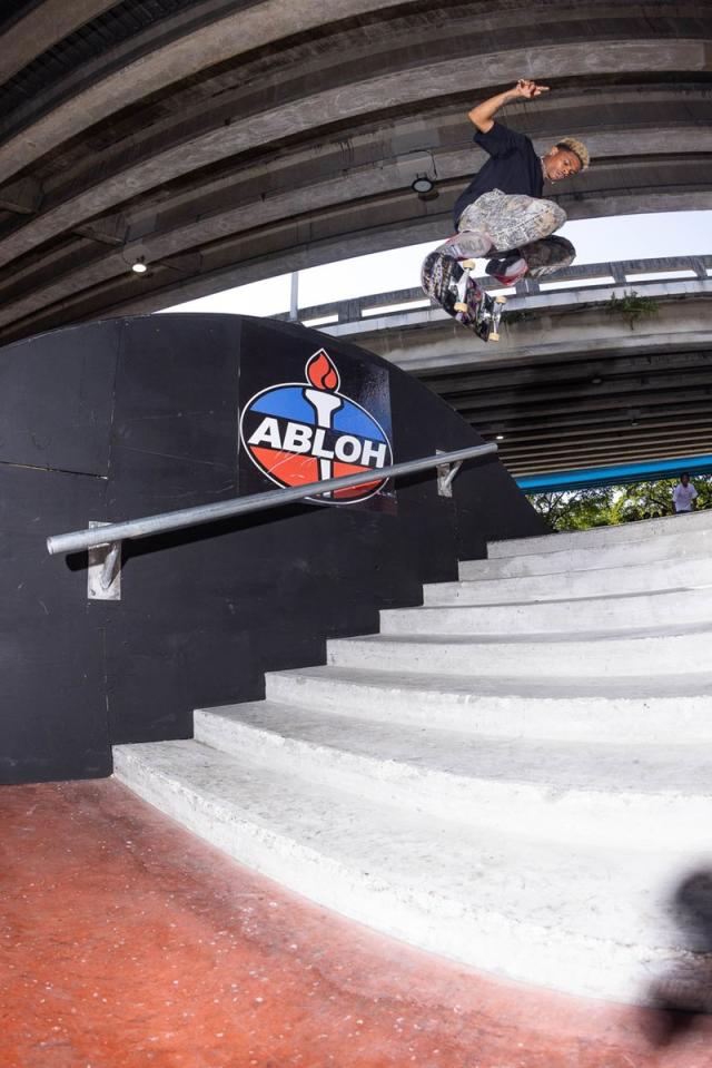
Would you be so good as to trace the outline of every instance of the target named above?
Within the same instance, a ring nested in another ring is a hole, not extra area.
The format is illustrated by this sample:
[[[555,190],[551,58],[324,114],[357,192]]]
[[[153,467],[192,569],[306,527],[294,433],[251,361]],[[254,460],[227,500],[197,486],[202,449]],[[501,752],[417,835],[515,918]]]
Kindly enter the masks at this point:
[[[513,89],[469,111],[477,128],[475,144],[490,159],[455,204],[458,233],[437,249],[458,261],[494,253],[485,270],[503,285],[513,285],[527,273],[541,277],[567,266],[575,256],[571,242],[551,236],[566,222],[566,214],[553,200],[542,199],[542,190],[545,182],[585,170],[586,147],[575,137],[562,137],[540,157],[528,137],[494,118],[506,104],[532,100],[543,92],[548,92],[548,86],[521,78]]]

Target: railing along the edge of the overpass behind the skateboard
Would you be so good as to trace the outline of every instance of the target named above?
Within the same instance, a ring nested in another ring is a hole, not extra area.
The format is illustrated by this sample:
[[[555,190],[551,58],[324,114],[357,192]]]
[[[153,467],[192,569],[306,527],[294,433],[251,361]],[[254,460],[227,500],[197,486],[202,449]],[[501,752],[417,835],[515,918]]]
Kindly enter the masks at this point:
[[[657,277],[640,281],[630,275],[654,274]],[[613,263],[591,263],[583,266],[562,267],[542,280],[542,284],[532,278],[524,278],[511,290],[512,296],[527,297],[540,293],[551,292],[546,288],[551,283],[581,283],[582,288],[595,290],[596,286],[610,288],[611,285],[633,286],[636,288],[655,282],[674,282],[681,280],[681,274],[688,275],[688,281],[709,282],[712,275],[712,256],[674,256],[657,259],[621,259]],[[612,280],[612,281],[611,281]],[[483,276],[477,282],[486,290],[501,290],[496,278]],[[567,286],[568,292],[575,285]],[[396,307],[394,307],[396,305]],[[405,305],[398,307],[397,305]],[[419,311],[437,305],[425,296],[422,290],[394,290],[389,293],[367,294],[347,301],[335,301],[332,304],[319,304],[312,307],[300,307],[297,319],[305,325],[337,326],[345,323],[366,323],[372,319],[389,315],[403,315],[408,311]],[[289,314],[276,315],[275,319],[289,320]]]

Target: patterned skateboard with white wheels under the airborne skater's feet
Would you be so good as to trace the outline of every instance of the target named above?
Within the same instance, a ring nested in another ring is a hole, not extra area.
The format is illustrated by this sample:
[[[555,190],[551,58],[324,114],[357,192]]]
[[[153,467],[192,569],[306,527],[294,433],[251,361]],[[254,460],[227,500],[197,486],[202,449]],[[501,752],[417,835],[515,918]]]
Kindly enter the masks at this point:
[[[474,266],[474,259],[458,262],[436,249],[423,262],[423,290],[482,341],[500,341],[498,326],[506,297],[490,296],[478,286],[471,277]]]

